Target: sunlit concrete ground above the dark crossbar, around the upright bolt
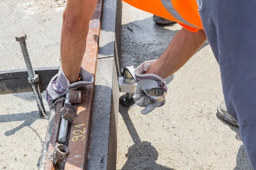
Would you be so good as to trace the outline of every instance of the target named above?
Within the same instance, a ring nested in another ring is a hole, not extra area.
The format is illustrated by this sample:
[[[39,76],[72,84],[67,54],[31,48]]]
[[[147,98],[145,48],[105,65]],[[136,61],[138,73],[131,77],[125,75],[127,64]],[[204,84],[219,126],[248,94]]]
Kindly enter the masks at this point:
[[[34,67],[58,66],[62,14],[55,0],[0,1],[0,70],[26,68],[15,35],[26,33]],[[65,4],[65,3],[64,3]]]

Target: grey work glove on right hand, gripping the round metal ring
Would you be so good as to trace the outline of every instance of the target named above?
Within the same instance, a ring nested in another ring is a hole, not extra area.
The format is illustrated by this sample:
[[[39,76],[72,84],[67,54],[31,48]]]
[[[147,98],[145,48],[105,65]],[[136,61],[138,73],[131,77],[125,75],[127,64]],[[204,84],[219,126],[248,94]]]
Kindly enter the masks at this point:
[[[148,102],[145,92],[152,88],[161,88],[167,92],[167,86],[165,79],[162,79],[156,74],[144,74],[150,65],[156,60],[143,62],[139,67],[134,70],[135,79],[137,81],[137,87],[135,95],[133,96],[135,103],[140,107],[145,107],[141,113],[148,114],[153,111],[154,108],[160,107],[165,104],[165,100],[162,102]]]

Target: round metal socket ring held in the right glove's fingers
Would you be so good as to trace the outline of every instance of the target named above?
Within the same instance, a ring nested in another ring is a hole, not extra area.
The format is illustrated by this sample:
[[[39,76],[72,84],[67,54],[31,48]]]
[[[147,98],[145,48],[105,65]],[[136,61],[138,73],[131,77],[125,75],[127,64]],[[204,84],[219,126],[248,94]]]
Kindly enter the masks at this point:
[[[145,91],[148,102],[162,102],[165,99],[166,92],[161,88],[152,88]]]

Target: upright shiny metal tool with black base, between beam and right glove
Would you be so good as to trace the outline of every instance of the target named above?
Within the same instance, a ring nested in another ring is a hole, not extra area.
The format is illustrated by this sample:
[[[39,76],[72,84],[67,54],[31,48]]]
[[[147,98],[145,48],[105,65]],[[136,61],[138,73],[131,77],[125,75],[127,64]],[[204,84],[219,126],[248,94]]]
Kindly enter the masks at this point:
[[[125,67],[121,72],[122,77],[118,78],[119,91],[126,93],[120,98],[120,104],[125,107],[133,107],[136,105],[134,99],[132,98],[137,85],[133,72],[134,66]]]

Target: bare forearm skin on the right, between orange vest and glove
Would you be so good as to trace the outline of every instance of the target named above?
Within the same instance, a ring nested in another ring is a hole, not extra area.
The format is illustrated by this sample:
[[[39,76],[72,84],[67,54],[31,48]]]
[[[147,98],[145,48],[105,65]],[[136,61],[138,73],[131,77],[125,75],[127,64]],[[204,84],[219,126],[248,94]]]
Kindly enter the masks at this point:
[[[179,70],[207,39],[204,30],[196,33],[182,28],[173,37],[160,58],[152,64],[145,74],[156,74],[163,79]]]

